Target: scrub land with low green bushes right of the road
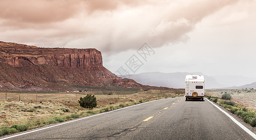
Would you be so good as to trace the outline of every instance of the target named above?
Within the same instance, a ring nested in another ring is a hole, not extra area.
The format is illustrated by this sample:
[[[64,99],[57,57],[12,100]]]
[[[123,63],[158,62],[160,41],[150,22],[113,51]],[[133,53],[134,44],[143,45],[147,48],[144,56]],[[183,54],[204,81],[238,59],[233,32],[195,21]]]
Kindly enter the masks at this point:
[[[250,126],[256,126],[256,93],[245,90],[207,90],[206,98],[237,115]]]

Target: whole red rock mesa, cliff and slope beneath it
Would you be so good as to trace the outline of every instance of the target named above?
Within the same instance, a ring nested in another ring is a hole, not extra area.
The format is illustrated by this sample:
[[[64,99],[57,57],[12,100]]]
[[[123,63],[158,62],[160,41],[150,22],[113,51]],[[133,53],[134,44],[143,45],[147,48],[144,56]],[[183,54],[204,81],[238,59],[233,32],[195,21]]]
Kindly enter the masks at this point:
[[[39,48],[0,42],[0,90],[56,91],[70,85],[142,87],[102,65],[97,49]]]

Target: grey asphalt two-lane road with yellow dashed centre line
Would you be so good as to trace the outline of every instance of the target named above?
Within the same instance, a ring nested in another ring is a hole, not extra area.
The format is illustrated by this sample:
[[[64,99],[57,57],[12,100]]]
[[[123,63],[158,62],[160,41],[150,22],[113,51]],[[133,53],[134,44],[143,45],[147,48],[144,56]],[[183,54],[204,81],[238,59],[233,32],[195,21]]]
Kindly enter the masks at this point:
[[[185,101],[184,97],[151,101],[37,130],[10,139],[254,140],[209,101]]]

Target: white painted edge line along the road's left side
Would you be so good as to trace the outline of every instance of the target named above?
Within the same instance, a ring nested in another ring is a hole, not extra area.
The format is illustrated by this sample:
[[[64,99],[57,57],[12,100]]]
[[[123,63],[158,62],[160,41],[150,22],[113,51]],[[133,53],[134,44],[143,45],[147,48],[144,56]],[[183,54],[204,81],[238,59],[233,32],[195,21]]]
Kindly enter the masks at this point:
[[[162,98],[162,99],[166,99],[166,98]],[[159,101],[159,100],[162,100],[162,99],[157,99],[157,100],[153,100],[153,101],[149,101],[149,102]],[[149,103],[149,102],[140,103],[140,104],[137,104],[137,105],[142,105],[142,104],[146,104],[146,103]],[[119,109],[116,109],[116,110],[113,110],[113,111],[110,111],[110,112],[116,112],[116,111],[119,111],[119,110],[122,110],[122,109],[126,109],[126,108],[129,108],[129,107],[133,107],[133,106],[136,106],[136,105],[131,105],[131,106],[119,108]],[[67,121],[67,122],[60,123],[60,124],[57,124],[57,125],[54,125],[54,126],[48,126],[48,127],[44,127],[44,128],[41,128],[41,129],[29,131],[29,132],[26,132],[26,133],[20,133],[20,134],[17,134],[17,135],[9,136],[9,137],[6,137],[6,138],[2,138],[0,140],[10,139],[10,138],[14,138],[14,137],[17,137],[17,136],[25,135],[25,134],[28,134],[28,133],[34,133],[34,132],[41,131],[41,130],[44,130],[44,129],[48,129],[48,128],[51,128],[51,127],[61,126],[61,125],[64,125],[64,124],[68,124],[68,123],[71,123],[71,122],[75,122],[75,121],[79,121],[79,120],[83,120],[83,119],[87,119],[87,118],[96,117],[96,116],[107,114],[107,113],[110,113],[110,112],[104,112],[104,113],[96,114],[96,115],[85,117],[85,118],[81,118],[81,119],[75,119],[75,120]]]

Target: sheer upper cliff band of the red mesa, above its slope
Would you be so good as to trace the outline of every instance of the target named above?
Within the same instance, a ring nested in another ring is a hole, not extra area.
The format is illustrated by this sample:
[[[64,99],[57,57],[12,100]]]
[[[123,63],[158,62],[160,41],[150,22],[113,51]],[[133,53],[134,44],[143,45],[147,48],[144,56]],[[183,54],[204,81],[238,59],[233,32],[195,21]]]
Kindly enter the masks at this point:
[[[50,64],[58,67],[88,68],[102,66],[102,56],[97,49],[38,48],[0,42],[0,62],[15,67]]]

